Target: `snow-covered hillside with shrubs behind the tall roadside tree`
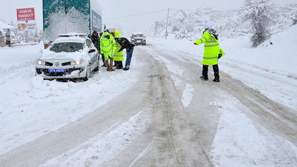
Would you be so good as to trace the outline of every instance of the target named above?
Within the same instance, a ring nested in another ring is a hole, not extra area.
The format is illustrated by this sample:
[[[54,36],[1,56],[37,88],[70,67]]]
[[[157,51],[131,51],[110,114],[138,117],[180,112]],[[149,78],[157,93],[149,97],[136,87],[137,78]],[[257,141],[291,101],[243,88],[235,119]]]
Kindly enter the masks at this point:
[[[277,6],[272,31],[288,28],[293,24],[293,13],[297,4]],[[171,10],[173,12],[174,10]],[[237,10],[213,10],[211,8],[192,11],[177,11],[169,17],[168,31],[175,39],[193,40],[201,34],[205,23],[211,23],[221,37],[244,36],[250,32],[250,24],[242,19],[243,8]],[[164,36],[167,20],[157,21],[150,32],[151,36]]]

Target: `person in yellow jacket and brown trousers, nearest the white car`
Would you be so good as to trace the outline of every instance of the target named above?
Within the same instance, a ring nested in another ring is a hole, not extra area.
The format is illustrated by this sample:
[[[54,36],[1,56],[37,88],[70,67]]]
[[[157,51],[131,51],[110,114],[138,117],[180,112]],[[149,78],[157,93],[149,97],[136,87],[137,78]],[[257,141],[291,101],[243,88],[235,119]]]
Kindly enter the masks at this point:
[[[113,57],[116,53],[116,40],[109,33],[108,29],[104,29],[104,32],[100,38],[100,51],[104,55],[105,66],[107,71],[114,71],[113,66]],[[108,62],[108,59],[110,62]]]

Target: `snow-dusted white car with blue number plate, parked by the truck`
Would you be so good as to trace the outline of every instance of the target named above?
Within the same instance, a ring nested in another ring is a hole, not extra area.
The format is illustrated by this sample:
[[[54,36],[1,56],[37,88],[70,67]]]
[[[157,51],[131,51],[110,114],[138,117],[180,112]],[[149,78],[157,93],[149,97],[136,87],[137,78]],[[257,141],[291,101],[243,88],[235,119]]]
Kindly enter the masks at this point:
[[[36,75],[44,79],[81,78],[99,70],[99,53],[87,34],[61,34],[36,62]]]

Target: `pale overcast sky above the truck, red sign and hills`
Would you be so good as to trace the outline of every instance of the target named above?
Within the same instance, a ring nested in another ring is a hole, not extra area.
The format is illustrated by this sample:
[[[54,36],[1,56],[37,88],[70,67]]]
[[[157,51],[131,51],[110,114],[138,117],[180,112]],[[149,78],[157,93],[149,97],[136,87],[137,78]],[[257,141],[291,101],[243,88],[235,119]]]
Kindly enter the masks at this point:
[[[213,9],[234,9],[243,5],[244,0],[99,0],[102,5],[103,23],[107,27],[121,28],[126,32],[147,31],[160,19],[167,17],[167,11],[149,15],[108,20],[110,18],[146,13],[167,8],[192,9],[212,7]],[[276,3],[296,3],[297,0],[272,0]],[[42,0],[1,0],[0,19],[16,23],[16,9],[35,7],[37,26],[42,28]],[[173,11],[172,11],[173,12]],[[133,25],[132,25],[133,24]]]

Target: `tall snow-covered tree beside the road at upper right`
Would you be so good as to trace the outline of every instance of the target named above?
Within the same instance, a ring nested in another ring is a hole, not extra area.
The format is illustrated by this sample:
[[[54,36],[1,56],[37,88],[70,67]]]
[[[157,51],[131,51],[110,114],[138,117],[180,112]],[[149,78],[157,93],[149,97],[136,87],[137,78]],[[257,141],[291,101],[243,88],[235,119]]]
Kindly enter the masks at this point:
[[[251,22],[253,47],[259,46],[271,37],[271,26],[275,5],[271,0],[245,0],[243,19]]]

